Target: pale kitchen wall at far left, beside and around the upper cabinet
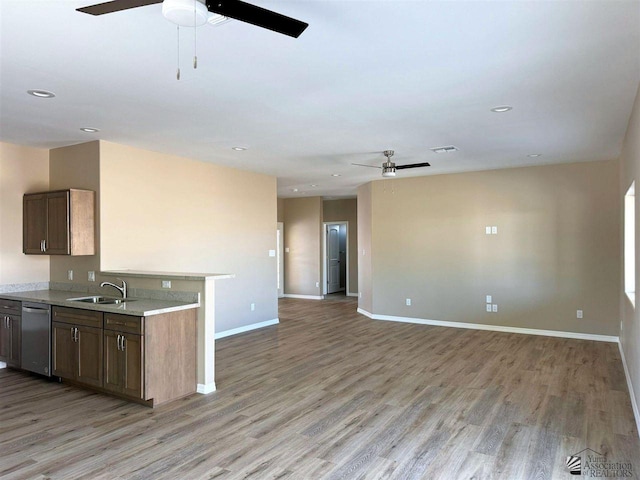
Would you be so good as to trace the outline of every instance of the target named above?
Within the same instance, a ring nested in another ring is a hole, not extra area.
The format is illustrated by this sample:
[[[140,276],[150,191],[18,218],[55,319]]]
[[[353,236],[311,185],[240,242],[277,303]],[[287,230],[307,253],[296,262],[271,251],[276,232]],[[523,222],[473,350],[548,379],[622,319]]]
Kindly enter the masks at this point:
[[[49,257],[22,253],[22,196],[49,190],[49,151],[0,142],[0,286],[49,281]]]

